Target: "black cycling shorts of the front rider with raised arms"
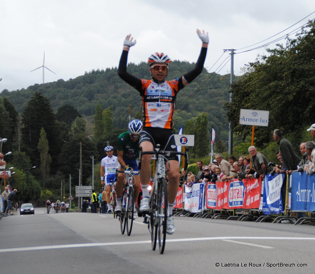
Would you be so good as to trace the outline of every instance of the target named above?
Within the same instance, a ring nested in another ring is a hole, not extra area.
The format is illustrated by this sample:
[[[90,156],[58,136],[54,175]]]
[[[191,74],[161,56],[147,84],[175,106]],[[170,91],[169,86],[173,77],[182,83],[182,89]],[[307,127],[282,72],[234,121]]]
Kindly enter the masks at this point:
[[[173,130],[159,127],[144,127],[141,131],[140,146],[144,141],[153,144],[153,148],[159,144],[162,150],[177,151]],[[178,161],[177,155],[165,156],[168,160]]]

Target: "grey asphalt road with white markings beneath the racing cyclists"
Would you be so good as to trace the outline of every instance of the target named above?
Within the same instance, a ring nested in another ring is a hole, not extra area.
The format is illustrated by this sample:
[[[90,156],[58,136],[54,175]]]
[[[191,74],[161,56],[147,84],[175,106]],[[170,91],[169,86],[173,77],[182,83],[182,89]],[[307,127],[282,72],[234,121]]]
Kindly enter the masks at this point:
[[[161,255],[142,222],[127,236],[110,214],[18,212],[0,220],[0,273],[314,273],[309,224],[175,217]]]

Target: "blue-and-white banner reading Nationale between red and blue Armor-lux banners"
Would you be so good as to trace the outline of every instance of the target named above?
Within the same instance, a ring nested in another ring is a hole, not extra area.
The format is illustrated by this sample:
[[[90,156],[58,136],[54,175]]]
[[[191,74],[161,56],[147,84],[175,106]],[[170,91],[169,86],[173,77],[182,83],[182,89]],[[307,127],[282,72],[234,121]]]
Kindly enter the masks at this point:
[[[264,196],[262,210],[266,215],[279,214],[283,212],[281,187],[284,175],[272,176],[267,174],[264,182]]]

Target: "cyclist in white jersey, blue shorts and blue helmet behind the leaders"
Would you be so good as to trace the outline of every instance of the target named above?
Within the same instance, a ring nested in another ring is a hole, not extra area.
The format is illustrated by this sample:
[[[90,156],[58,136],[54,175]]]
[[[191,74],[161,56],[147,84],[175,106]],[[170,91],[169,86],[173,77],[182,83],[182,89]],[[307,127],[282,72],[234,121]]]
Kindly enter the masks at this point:
[[[107,156],[101,160],[100,164],[100,179],[101,184],[105,185],[106,190],[106,201],[107,201],[107,213],[112,213],[111,204],[111,184],[115,182],[115,172],[117,157],[113,155],[114,148],[112,146],[107,146],[105,149]]]

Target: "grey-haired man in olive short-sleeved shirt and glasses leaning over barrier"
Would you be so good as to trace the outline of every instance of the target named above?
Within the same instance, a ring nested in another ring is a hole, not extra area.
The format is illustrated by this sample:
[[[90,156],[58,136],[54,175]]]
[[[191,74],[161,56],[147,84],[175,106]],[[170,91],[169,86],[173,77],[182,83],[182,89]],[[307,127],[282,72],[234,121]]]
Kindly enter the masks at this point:
[[[254,146],[249,147],[249,154],[251,155],[250,162],[252,164],[252,169],[248,169],[246,172],[246,178],[259,178],[259,176],[264,179],[267,173],[272,172],[272,167],[268,166],[269,161],[266,157],[257,151]]]

